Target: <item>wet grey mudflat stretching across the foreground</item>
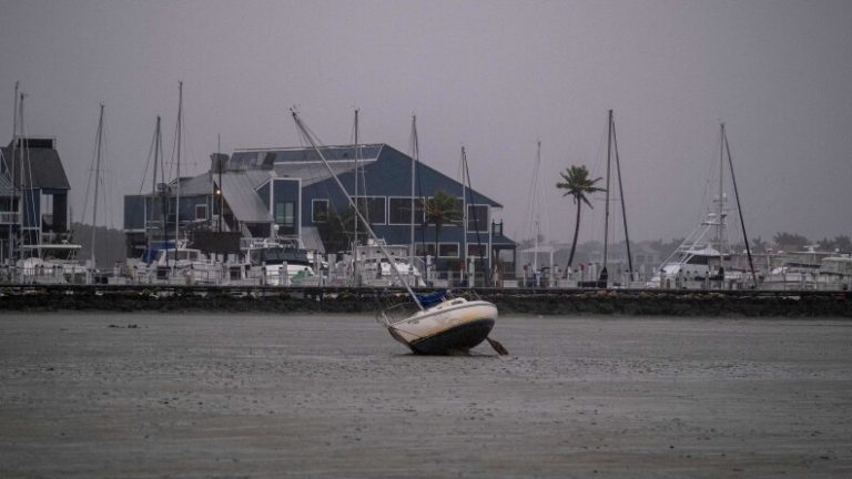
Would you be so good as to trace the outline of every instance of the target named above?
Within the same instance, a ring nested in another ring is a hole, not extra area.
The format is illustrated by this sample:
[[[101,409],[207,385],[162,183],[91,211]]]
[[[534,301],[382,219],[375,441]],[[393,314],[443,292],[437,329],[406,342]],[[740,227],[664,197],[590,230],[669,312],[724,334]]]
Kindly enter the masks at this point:
[[[0,477],[852,477],[852,322],[493,336],[510,356],[369,316],[2,314]]]

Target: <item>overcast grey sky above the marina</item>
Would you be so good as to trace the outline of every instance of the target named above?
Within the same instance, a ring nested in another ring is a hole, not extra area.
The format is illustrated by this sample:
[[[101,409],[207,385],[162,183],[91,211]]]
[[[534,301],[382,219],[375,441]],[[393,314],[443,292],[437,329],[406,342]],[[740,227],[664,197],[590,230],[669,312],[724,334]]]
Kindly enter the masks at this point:
[[[540,139],[542,230],[568,241],[558,172],[604,174],[613,109],[631,237],[666,240],[703,214],[724,121],[750,235],[850,235],[850,1],[0,0],[0,136],[20,80],[80,220],[105,102],[106,224],[121,227],[156,114],[171,151],[179,80],[193,173],[217,133],[226,153],[298,145],[294,104],[326,144],[349,141],[357,106],[365,141],[406,152],[416,113],[422,160],[455,176],[465,145],[516,240]],[[581,241],[601,234],[595,205]]]

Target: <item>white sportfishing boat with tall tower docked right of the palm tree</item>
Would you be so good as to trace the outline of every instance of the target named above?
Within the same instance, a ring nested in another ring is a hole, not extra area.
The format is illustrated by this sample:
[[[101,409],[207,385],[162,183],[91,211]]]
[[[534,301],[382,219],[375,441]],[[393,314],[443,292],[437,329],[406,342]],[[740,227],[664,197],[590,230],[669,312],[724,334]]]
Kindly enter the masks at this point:
[[[746,224],[742,217],[742,207],[740,206],[737,181],[733,175],[733,161],[731,160],[728,136],[724,131],[724,123],[720,130],[719,149],[719,184],[718,194],[713,198],[714,206],[708,208],[704,220],[674,252],[662,263],[647,287],[686,287],[687,282],[726,282],[741,281],[742,275],[734,274],[731,271],[726,272],[724,262],[731,256],[730,245],[728,243],[728,210],[726,203],[728,195],[724,192],[724,155],[728,154],[729,171],[731,182],[733,183],[734,195],[737,196],[737,210],[740,215],[743,237],[746,240],[746,251],[748,253],[751,276],[757,283],[754,273],[754,263],[751,257],[749,240],[746,235]]]

